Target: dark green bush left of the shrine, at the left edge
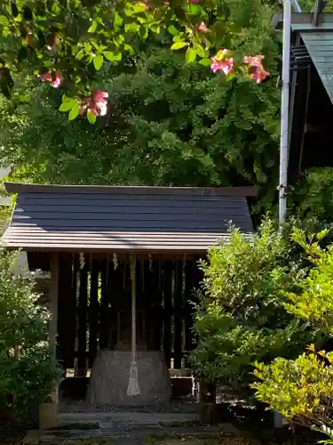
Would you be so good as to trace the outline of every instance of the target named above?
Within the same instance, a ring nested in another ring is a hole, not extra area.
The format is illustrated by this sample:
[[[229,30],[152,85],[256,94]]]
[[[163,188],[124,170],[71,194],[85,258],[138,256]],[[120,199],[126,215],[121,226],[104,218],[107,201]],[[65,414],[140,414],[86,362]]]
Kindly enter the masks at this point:
[[[20,418],[52,391],[59,368],[49,351],[49,313],[33,281],[14,273],[17,255],[0,251],[0,407]]]

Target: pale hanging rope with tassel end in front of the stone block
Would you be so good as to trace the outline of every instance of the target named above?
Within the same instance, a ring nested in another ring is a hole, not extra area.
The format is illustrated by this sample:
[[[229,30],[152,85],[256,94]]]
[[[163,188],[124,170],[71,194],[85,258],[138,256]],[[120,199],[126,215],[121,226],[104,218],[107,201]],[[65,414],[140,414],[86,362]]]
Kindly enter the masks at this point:
[[[136,258],[135,255],[131,255],[131,368],[129,385],[126,392],[128,396],[136,396],[141,393],[139,388],[137,364],[137,307],[135,295],[135,269]]]

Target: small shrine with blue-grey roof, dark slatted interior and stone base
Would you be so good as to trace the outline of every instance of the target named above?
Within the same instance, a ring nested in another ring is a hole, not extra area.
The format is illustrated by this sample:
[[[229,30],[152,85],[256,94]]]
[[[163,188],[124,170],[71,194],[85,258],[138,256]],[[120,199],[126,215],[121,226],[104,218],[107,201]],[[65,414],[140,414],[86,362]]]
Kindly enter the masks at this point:
[[[194,347],[197,267],[228,238],[252,232],[253,188],[59,186],[8,182],[17,193],[4,246],[51,271],[50,338],[67,376],[91,369],[88,401],[170,399],[169,368]],[[56,341],[54,341],[56,339]]]

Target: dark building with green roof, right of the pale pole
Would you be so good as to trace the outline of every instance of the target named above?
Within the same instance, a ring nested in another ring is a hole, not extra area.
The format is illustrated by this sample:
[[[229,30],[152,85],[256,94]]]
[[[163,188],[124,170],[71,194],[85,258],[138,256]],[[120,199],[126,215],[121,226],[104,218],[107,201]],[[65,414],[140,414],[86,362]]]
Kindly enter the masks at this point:
[[[324,7],[318,0],[313,12],[291,14],[288,182],[293,186],[310,168],[333,166],[333,13],[322,12]],[[274,16],[274,27],[282,29],[282,14]]]

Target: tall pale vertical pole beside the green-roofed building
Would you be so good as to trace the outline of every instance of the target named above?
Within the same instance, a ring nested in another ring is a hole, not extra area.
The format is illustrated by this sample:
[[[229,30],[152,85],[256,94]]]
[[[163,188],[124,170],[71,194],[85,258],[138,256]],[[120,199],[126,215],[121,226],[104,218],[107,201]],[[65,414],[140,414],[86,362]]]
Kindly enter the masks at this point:
[[[280,137],[280,183],[279,222],[283,223],[287,212],[287,174],[289,149],[289,71],[290,71],[290,0],[283,1],[283,48],[282,48],[282,91],[281,91],[281,137]]]

